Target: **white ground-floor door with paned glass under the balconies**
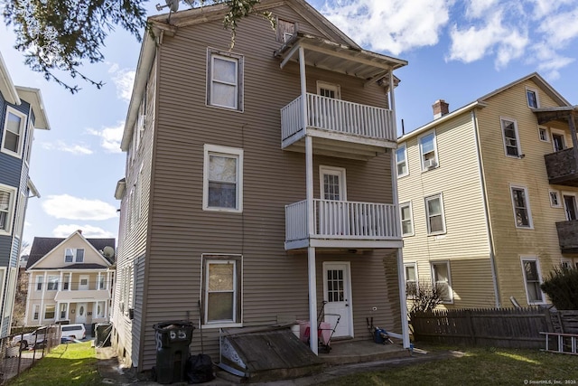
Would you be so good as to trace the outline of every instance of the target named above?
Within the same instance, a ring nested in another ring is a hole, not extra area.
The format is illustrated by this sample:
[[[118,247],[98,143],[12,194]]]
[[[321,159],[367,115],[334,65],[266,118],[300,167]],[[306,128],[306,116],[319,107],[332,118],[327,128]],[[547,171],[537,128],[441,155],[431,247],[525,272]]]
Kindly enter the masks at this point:
[[[323,263],[324,322],[335,328],[333,336],[353,337],[353,315],[351,308],[350,262]],[[331,315],[332,314],[332,315]]]

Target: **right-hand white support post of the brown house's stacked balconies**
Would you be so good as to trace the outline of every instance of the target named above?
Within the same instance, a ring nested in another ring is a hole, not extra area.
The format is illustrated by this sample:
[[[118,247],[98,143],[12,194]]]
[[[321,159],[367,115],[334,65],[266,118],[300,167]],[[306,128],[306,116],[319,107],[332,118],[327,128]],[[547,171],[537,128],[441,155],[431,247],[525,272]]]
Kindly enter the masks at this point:
[[[396,123],[396,98],[394,96],[394,71],[389,71],[389,108],[393,115],[394,135],[397,134]],[[396,152],[391,152],[391,191],[393,202],[396,205],[396,224],[400,227],[399,220],[399,197],[397,194],[397,164]],[[401,231],[399,231],[401,234]],[[404,273],[404,253],[402,249],[397,249],[397,282],[399,283],[399,310],[401,313],[401,334],[403,337],[404,348],[409,348],[409,324],[407,323],[407,299],[406,299],[406,275]]]

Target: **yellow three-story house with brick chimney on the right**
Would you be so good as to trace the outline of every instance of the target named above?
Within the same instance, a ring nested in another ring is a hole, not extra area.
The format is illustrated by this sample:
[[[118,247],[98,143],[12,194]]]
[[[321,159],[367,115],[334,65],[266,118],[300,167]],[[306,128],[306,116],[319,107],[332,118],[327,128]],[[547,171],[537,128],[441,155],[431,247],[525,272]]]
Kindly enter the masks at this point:
[[[548,302],[539,285],[578,263],[575,114],[533,73],[400,138],[406,287],[442,287],[446,308]]]

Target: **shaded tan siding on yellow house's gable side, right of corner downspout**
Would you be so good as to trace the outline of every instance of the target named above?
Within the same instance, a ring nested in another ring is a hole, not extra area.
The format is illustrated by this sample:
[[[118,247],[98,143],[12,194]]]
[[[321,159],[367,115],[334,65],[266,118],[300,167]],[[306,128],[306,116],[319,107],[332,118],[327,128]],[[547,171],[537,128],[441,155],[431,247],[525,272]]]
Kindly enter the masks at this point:
[[[538,90],[540,107],[557,106],[532,80],[527,80],[488,99],[489,107],[479,114],[480,142],[503,306],[510,306],[510,296],[516,297],[522,305],[527,304],[520,256],[538,258],[542,278],[562,259],[555,222],[565,220],[564,209],[550,206],[549,190],[578,193],[576,188],[548,184],[544,155],[554,150],[551,142],[542,142],[538,138],[536,116],[527,107],[526,87]],[[524,158],[504,155],[500,117],[517,120]],[[572,146],[567,124],[546,126],[564,129],[567,133],[566,144]],[[527,188],[533,230],[516,228],[510,184]]]

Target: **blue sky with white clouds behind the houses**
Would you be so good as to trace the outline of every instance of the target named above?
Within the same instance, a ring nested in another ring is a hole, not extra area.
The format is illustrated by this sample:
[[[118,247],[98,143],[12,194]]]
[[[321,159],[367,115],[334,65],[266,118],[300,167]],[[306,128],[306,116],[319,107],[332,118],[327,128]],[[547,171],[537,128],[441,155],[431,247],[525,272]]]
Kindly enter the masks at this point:
[[[147,4],[149,14],[159,14]],[[406,132],[433,118],[432,104],[450,110],[537,71],[578,104],[578,0],[314,0],[310,4],[365,49],[409,61],[396,76],[396,116]],[[187,5],[181,4],[181,9]],[[39,88],[51,131],[35,134],[31,177],[42,197],[29,202],[24,240],[117,237],[124,176],[120,152],[140,43],[117,28],[106,61],[84,69],[103,89],[80,83],[71,95],[23,64],[14,34],[0,26],[0,52],[14,84]]]

